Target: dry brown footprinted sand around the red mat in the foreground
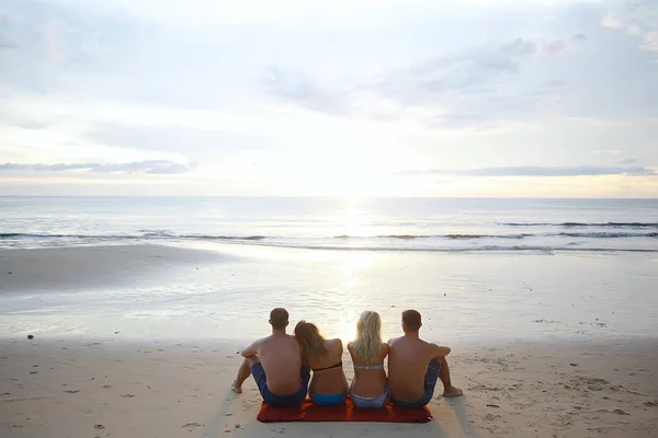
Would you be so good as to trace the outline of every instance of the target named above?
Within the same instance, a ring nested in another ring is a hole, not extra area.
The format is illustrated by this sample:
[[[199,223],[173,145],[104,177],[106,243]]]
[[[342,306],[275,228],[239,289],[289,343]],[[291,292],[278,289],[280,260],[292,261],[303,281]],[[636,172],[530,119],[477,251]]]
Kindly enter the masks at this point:
[[[426,425],[258,423],[253,381],[229,391],[237,348],[3,339],[0,437],[658,436],[655,341],[453,346],[465,395],[433,401]]]

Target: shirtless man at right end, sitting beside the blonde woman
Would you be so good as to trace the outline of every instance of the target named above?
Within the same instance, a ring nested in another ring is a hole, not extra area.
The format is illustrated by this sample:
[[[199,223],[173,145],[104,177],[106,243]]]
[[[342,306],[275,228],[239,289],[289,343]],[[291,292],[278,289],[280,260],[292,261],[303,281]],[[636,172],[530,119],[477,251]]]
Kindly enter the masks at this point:
[[[396,406],[422,407],[434,395],[436,380],[443,383],[443,396],[462,395],[462,390],[452,385],[445,356],[449,347],[422,341],[418,334],[422,325],[416,310],[402,312],[404,336],[388,341],[388,385],[392,402]]]

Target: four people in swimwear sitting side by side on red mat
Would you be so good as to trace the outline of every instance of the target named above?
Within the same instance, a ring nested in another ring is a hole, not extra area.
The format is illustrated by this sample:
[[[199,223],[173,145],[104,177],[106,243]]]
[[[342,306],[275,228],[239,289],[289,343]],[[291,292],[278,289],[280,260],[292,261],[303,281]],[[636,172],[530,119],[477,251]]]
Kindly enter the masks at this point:
[[[263,400],[272,406],[299,405],[308,391],[320,405],[341,404],[349,395],[360,408],[382,408],[389,402],[420,407],[432,400],[438,379],[443,383],[443,396],[462,394],[450,380],[445,360],[450,348],[419,337],[422,323],[416,310],[402,312],[405,334],[388,343],[382,342],[379,314],[361,314],[356,338],[348,344],[354,364],[351,384],[343,372],[341,339],[325,339],[318,327],[306,321],[295,326],[294,336],[287,335],[288,312],[282,308],[272,310],[270,324],[272,335],[242,350],[245,360],[231,387],[235,392],[242,392],[242,383],[252,374]]]

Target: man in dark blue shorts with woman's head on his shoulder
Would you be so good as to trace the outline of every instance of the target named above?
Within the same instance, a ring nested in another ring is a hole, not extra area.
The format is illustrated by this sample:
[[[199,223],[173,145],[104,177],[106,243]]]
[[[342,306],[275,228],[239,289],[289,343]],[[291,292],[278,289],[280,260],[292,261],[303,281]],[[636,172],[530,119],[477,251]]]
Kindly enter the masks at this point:
[[[272,406],[296,406],[306,397],[310,372],[302,366],[299,345],[285,333],[288,312],[276,308],[270,312],[272,334],[242,350],[245,360],[231,389],[242,392],[242,383],[253,376],[265,403]]]

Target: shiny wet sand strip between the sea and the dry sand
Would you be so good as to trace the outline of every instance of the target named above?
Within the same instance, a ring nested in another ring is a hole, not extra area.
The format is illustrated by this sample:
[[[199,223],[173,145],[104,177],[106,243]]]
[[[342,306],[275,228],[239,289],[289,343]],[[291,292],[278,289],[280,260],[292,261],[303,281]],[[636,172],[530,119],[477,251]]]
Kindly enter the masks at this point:
[[[658,331],[656,262],[236,244],[1,250],[0,333],[243,342],[283,306],[292,324],[310,320],[345,341],[362,310],[378,311],[390,337],[407,308],[446,344],[646,338]]]

